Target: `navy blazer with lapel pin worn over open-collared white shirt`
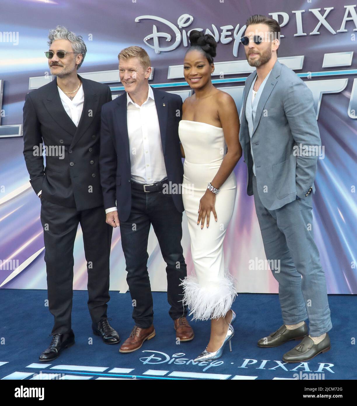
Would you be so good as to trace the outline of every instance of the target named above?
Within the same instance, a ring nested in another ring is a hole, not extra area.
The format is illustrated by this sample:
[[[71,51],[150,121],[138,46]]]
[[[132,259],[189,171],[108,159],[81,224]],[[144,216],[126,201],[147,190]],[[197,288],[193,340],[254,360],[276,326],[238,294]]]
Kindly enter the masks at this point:
[[[179,122],[182,99],[173,93],[153,88],[161,144],[168,182],[183,182]],[[131,212],[131,163],[127,127],[127,93],[106,103],[101,110],[101,148],[99,170],[104,207],[117,207],[118,217],[126,221]],[[154,162],[155,164],[155,162]],[[183,212],[181,193],[171,194],[175,207]]]

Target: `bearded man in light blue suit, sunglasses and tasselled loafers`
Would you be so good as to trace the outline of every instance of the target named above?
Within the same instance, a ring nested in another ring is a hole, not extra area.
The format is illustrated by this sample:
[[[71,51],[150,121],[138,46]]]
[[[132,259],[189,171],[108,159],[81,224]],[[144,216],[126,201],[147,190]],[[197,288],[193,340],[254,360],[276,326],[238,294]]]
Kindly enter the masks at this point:
[[[254,15],[246,26],[241,41],[256,71],[245,82],[239,140],[248,168],[247,193],[254,195],[265,254],[271,263],[280,261],[272,272],[279,283],[284,322],[258,346],[302,339],[282,359],[303,362],[331,347],[325,274],[312,231],[320,134],[312,92],[277,60],[279,24]]]

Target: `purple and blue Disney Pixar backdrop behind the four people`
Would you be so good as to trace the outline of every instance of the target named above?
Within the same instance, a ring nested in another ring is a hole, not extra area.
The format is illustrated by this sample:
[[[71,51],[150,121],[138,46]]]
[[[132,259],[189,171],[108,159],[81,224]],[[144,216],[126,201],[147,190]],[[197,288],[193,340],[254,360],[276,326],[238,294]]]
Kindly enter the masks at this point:
[[[107,83],[112,97],[123,93],[117,55],[130,45],[149,54],[149,83],[183,99],[191,89],[183,78],[189,31],[200,29],[218,42],[217,88],[234,98],[241,112],[245,79],[253,71],[240,38],[250,15],[264,14],[281,26],[279,60],[314,95],[322,140],[318,151],[314,234],[334,294],[357,293],[357,7],[341,0],[12,0],[0,12],[0,286],[46,289],[40,200],[32,190],[23,157],[25,95],[52,80],[44,52],[49,29],[66,26],[82,35],[87,55],[78,73]],[[198,151],[199,153],[199,151]],[[237,199],[224,242],[226,268],[238,292],[277,292],[265,261],[253,197],[246,194],[243,159],[234,169]],[[170,218],[168,218],[168,223]],[[193,270],[187,220],[183,239],[188,272]],[[164,263],[153,229],[148,242],[152,289],[166,290]],[[86,259],[78,228],[74,289],[86,289]],[[110,289],[127,291],[120,229],[114,229]]]

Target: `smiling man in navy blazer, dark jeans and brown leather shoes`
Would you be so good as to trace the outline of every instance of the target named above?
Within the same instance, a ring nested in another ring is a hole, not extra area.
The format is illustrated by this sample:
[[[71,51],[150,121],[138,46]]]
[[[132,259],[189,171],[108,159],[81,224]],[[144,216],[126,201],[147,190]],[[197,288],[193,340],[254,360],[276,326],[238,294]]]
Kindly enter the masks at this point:
[[[120,352],[138,350],[155,336],[147,244],[153,225],[167,267],[168,302],[176,337],[194,333],[183,306],[181,279],[186,264],[181,247],[183,165],[178,134],[182,99],[148,84],[150,58],[132,46],[118,55],[125,93],[103,106],[100,177],[107,223],[120,225],[127,283],[135,326]]]

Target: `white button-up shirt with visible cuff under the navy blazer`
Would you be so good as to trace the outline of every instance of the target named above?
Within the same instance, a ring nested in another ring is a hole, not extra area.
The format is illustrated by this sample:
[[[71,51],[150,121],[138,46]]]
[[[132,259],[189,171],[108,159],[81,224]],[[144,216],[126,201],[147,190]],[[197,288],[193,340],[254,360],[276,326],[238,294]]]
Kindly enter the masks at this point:
[[[148,97],[139,106],[127,93],[127,127],[131,164],[131,180],[140,184],[160,182],[167,177],[159,119],[154,92],[148,86]],[[116,207],[105,210],[113,212]]]

